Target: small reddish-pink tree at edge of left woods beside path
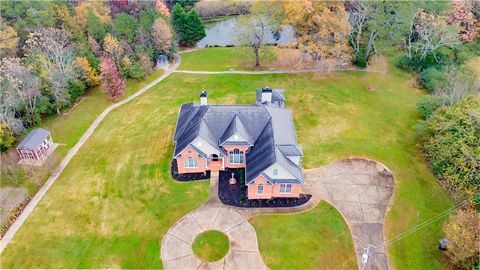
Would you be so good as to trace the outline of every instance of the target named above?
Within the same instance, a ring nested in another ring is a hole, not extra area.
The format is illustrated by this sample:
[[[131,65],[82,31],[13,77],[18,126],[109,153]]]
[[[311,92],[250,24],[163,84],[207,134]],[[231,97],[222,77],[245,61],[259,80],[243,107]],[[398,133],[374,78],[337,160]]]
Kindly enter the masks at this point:
[[[104,57],[100,63],[100,78],[109,99],[117,100],[125,92],[125,80],[120,77],[117,67],[109,57]]]

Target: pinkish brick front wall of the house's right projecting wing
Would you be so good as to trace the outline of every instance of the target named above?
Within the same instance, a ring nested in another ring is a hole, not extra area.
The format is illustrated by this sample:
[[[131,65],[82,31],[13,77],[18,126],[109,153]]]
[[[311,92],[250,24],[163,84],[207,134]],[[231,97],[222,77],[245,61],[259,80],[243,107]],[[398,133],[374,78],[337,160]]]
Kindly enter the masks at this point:
[[[258,194],[258,185],[263,184],[263,195]],[[248,198],[249,199],[270,199],[270,198],[298,198],[301,193],[300,184],[291,184],[291,193],[281,193],[280,184],[269,185],[267,179],[263,176],[259,176],[253,183],[248,185]]]

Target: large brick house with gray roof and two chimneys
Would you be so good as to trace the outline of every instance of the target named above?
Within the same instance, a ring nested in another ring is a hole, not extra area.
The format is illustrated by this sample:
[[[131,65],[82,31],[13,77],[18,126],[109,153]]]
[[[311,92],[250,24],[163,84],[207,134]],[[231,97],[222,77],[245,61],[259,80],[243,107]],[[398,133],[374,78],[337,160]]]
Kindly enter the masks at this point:
[[[283,90],[257,91],[251,105],[199,103],[180,108],[174,134],[178,173],[245,168],[249,199],[299,197],[302,148]]]

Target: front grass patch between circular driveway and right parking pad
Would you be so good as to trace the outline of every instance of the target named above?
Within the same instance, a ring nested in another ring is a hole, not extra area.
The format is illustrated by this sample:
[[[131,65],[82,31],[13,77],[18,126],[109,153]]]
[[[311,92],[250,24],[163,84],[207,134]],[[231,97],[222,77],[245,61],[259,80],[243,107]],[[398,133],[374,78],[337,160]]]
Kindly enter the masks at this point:
[[[305,213],[257,216],[250,222],[271,269],[357,268],[356,258],[349,260],[355,250],[348,226],[324,201]]]

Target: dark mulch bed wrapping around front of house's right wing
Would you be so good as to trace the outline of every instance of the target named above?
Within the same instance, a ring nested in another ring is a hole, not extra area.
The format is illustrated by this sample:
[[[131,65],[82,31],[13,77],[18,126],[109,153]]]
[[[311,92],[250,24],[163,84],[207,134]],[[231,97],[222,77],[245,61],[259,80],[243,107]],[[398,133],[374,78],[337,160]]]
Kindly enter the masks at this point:
[[[230,185],[229,179],[234,173],[237,182]],[[245,186],[245,177],[243,169],[228,169],[220,171],[220,179],[218,185],[218,197],[222,203],[226,205],[244,207],[244,208],[260,208],[260,207],[293,207],[305,204],[310,200],[312,195],[300,194],[299,198],[273,198],[252,199],[249,200],[247,196],[247,186]]]

